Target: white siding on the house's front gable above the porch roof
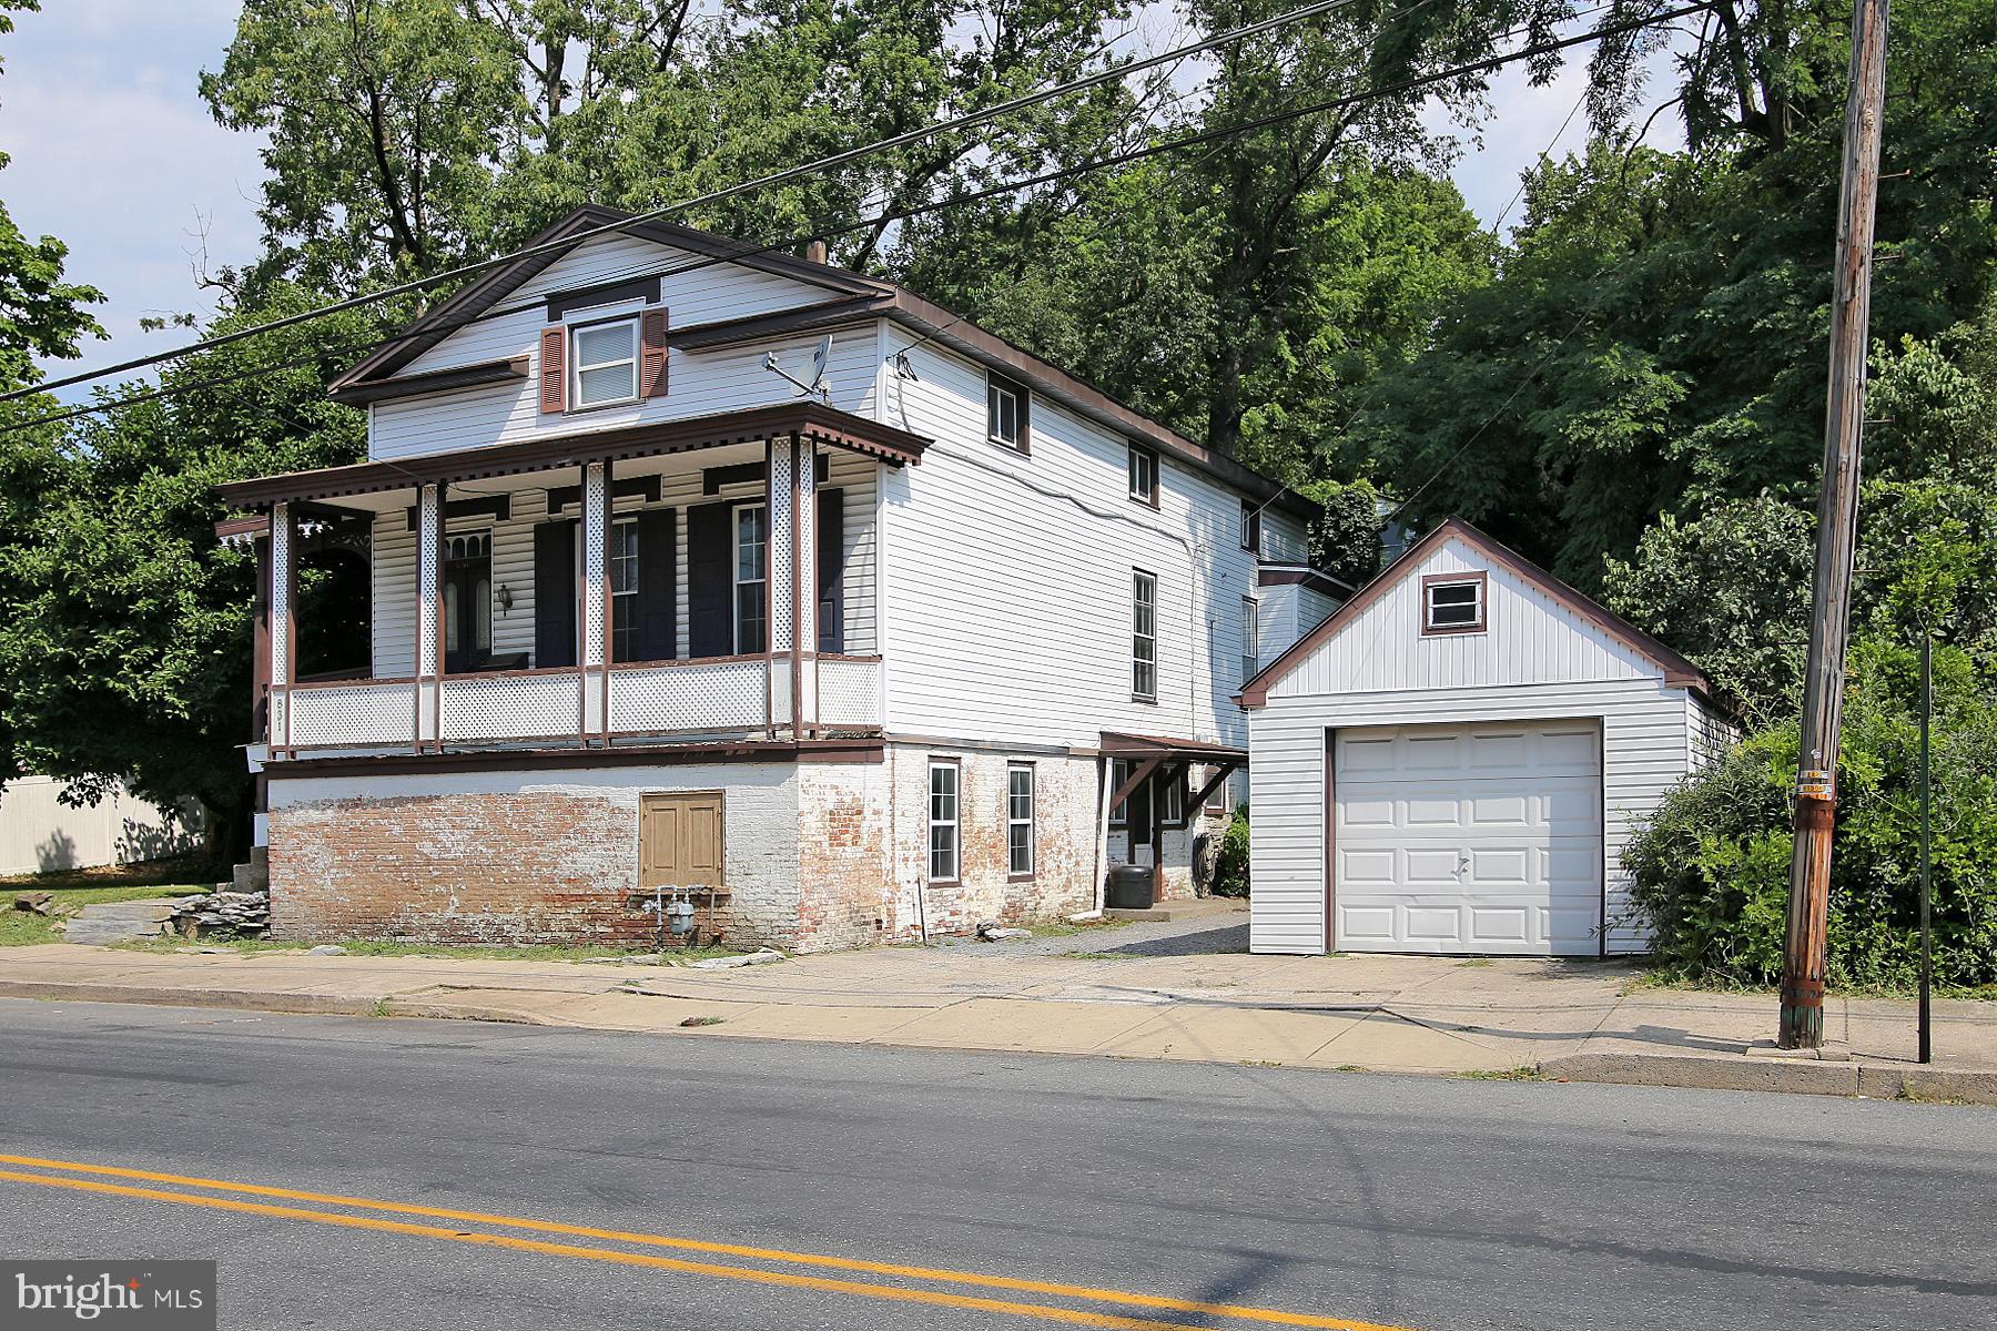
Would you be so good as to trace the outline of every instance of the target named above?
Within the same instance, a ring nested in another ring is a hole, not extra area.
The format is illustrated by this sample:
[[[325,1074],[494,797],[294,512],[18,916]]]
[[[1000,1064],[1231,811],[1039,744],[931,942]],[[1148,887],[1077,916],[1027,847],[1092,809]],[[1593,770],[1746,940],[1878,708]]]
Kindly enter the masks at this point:
[[[669,311],[673,327],[775,313],[831,297],[825,287],[773,277],[739,263],[671,271],[695,257],[671,245],[631,237],[585,241],[501,301],[505,309],[529,305],[527,309],[469,323],[401,371],[409,375],[525,355],[529,357],[525,379],[373,403],[367,411],[367,457],[395,461],[795,401],[797,389],[765,369],[765,355],[775,353],[783,369],[809,381],[811,359],[823,333],[771,337],[711,351],[675,347],[667,357],[669,387],[663,397],[597,411],[541,413],[539,335],[547,325],[547,313],[535,305],[537,297],[665,273],[659,303]],[[643,305],[629,307],[637,311]],[[855,415],[875,415],[875,355],[877,333],[871,325],[833,333],[833,351],[825,367],[831,405]]]

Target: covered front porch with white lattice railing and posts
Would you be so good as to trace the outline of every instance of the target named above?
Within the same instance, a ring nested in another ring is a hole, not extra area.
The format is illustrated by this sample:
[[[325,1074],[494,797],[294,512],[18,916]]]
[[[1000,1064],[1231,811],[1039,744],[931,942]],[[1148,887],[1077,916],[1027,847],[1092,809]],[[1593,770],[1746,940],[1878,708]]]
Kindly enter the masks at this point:
[[[925,445],[803,401],[228,485],[268,760],[877,734]]]

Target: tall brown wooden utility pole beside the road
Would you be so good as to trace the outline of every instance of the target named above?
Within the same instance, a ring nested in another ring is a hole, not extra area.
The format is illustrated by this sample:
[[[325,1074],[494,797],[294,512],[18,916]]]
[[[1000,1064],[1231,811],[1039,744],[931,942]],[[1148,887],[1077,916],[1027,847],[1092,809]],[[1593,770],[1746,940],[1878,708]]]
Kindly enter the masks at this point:
[[[1871,319],[1873,204],[1885,110],[1887,0],[1855,0],[1845,176],[1831,283],[1831,391],[1823,419],[1817,575],[1809,601],[1803,744],[1795,774],[1795,858],[1781,956],[1783,1050],[1823,1046],[1823,978],[1831,910],[1831,824],[1837,808],[1837,726],[1851,619],[1851,559],[1859,525],[1859,437],[1865,427],[1865,337]]]

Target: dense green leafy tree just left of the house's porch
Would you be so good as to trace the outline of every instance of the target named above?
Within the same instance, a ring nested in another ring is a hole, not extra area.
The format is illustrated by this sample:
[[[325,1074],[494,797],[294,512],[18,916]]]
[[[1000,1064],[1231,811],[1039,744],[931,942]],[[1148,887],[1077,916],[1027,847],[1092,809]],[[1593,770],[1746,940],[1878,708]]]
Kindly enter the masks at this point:
[[[270,295],[212,331],[314,303]],[[122,778],[154,802],[194,800],[212,850],[246,844],[256,565],[216,541],[216,485],[361,457],[361,413],[324,383],[363,327],[347,315],[188,357],[162,377],[172,397],[106,411],[36,457],[36,523],[0,563],[6,716],[32,770],[86,794]]]

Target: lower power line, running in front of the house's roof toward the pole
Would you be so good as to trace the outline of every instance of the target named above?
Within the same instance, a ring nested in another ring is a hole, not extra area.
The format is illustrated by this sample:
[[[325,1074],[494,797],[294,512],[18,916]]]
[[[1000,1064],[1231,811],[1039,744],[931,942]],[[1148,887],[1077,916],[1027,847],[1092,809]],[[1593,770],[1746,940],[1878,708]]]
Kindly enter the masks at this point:
[[[1434,0],[1424,0],[1424,2],[1434,2]],[[757,255],[763,255],[763,253],[773,253],[773,251],[779,251],[779,249],[789,249],[789,247],[797,245],[803,239],[823,239],[827,235],[845,235],[845,233],[851,233],[851,231],[861,231],[861,229],[875,227],[881,222],[905,222],[909,218],[919,218],[919,216],[925,216],[925,214],[931,214],[931,212],[941,212],[945,208],[957,208],[957,206],[963,206],[963,204],[977,204],[977,202],[983,202],[983,200],[989,200],[989,198],[995,198],[995,196],[1000,196],[1000,194],[1014,194],[1018,190],[1028,190],[1028,188],[1034,188],[1034,186],[1052,184],[1052,182],[1058,182],[1058,180],[1068,180],[1068,178],[1082,176],[1082,174],[1088,174],[1088,172],[1108,170],[1108,168],[1116,168],[1116,166],[1128,166],[1132,162],[1140,162],[1140,160],[1146,160],[1146,158],[1162,156],[1166,152],[1178,152],[1178,150],[1184,150],[1184,148],[1196,148],[1196,146],[1202,146],[1202,144],[1208,144],[1208,142],[1216,142],[1216,140],[1224,140],[1224,138],[1234,138],[1238,134],[1250,134],[1254,130],[1262,130],[1262,128],[1268,128],[1272,124],[1282,124],[1282,122],[1288,122],[1288,120],[1302,120],[1302,118],[1318,116],[1318,114],[1324,114],[1324,112],[1330,112],[1330,110],[1342,110],[1342,108],[1358,106],[1358,104],[1364,104],[1364,102],[1370,102],[1370,100],[1378,100],[1378,98],[1386,98],[1386,96],[1396,96],[1396,94],[1402,94],[1402,92],[1414,92],[1414,90],[1420,90],[1420,88],[1426,88],[1426,86],[1448,82],[1452,78],[1462,78],[1466,74],[1482,74],[1482,72],[1490,72],[1490,70],[1502,68],[1506,64],[1518,62],[1518,60],[1530,60],[1534,56],[1544,56],[1544,54],[1550,54],[1550,52],[1568,50],[1572,46],[1582,46],[1582,44],[1596,42],[1596,40],[1602,40],[1602,38],[1608,38],[1608,36],[1618,36],[1618,34],[1624,34],[1624,32],[1634,32],[1638,28],[1648,28],[1648,26],[1654,26],[1654,24],[1673,22],[1673,20],[1683,18],[1687,14],[1709,10],[1709,8],[1713,8],[1713,4],[1717,4],[1717,0],[1701,0],[1699,4],[1687,4],[1687,6],[1681,6],[1677,10],[1669,10],[1669,12],[1664,12],[1664,14],[1650,16],[1650,18],[1624,20],[1624,22],[1608,24],[1604,28],[1594,28],[1590,32],[1576,34],[1576,36],[1570,36],[1570,38],[1538,42],[1538,44],[1532,44],[1532,46],[1524,46],[1524,48],[1520,48],[1516,52],[1506,52],[1502,56],[1488,56],[1484,60],[1476,60],[1476,62],[1470,62],[1470,64],[1450,66],[1446,70],[1436,70],[1436,72],[1430,72],[1430,74],[1414,76],[1414,78],[1408,78],[1408,80],[1400,80],[1396,84],[1386,84],[1386,86],[1380,86],[1380,88],[1372,88],[1372,90],[1364,90],[1364,92],[1354,92],[1354,94],[1342,94],[1342,96],[1326,98],[1326,100],[1312,102],[1312,104],[1306,104],[1306,106],[1286,108],[1282,112],[1272,112],[1268,116],[1260,116],[1256,120],[1248,120],[1248,122],[1242,122],[1242,124],[1232,124],[1232,126],[1224,126],[1224,128],[1218,128],[1218,130],[1202,130],[1198,134],[1180,136],[1180,138],[1166,140],[1166,142],[1160,142],[1160,144],[1148,144],[1144,148],[1132,148],[1132,150],[1122,152],[1122,154],[1110,154],[1106,158],[1096,158],[1096,160],[1090,160],[1090,162],[1080,162],[1080,164],[1074,164],[1074,166],[1056,168],[1052,172],[1042,172],[1038,176],[1028,176],[1024,180],[1002,182],[1002,184],[997,184],[997,186],[987,186],[983,190],[973,190],[969,194],[951,196],[947,200],[935,200],[931,204],[917,204],[917,206],[911,206],[911,208],[905,208],[905,210],[893,210],[893,212],[877,214],[877,216],[863,218],[859,222],[847,223],[843,227],[821,229],[815,235],[793,235],[793,237],[785,237],[785,239],[779,239],[779,241],[769,241],[765,245],[743,245],[739,249],[731,247],[727,253],[709,255],[709,257],[701,257],[701,259],[691,259],[687,263],[665,267],[665,269],[649,269],[649,267],[647,269],[629,269],[629,275],[653,275],[653,273],[657,273],[661,277],[675,277],[675,275],[681,275],[681,273],[689,273],[689,271],[703,269],[703,267],[713,267],[713,265],[719,265],[719,263],[737,263],[741,259],[757,257]],[[617,225],[631,225],[635,222],[639,222],[639,218],[623,220]],[[587,235],[601,233],[603,229],[615,229],[615,227],[597,227],[593,231],[579,233],[577,237],[563,239],[561,245],[563,247],[571,247],[571,245],[581,243],[583,239],[587,239]],[[457,331],[461,327],[467,327],[471,323],[479,323],[483,319],[495,319],[495,317],[503,317],[503,315],[523,313],[527,309],[535,309],[541,303],[543,303],[543,299],[533,299],[533,301],[527,301],[527,303],[521,303],[521,305],[487,309],[483,313],[467,315],[463,319],[433,323],[433,325],[425,327],[423,331],[425,333],[453,333],[453,331]],[[244,337],[248,333],[272,331],[276,327],[294,325],[294,323],[300,323],[300,321],[310,319],[310,317],[320,317],[320,315],[326,315],[326,313],[337,313],[339,309],[341,309],[339,305],[328,305],[328,307],[324,307],[320,311],[306,311],[306,313],[300,313],[300,315],[288,315],[282,321],[266,323],[266,325],[260,325],[256,329],[238,329],[234,333],[226,333],[220,339],[210,339],[210,343],[198,343],[198,345],[186,347],[186,349],[182,349],[178,353],[162,353],[162,357],[156,357],[156,359],[166,359],[168,355],[186,355],[190,351],[214,349],[216,345],[222,345],[226,341],[236,341],[236,339],[240,339],[240,337]],[[363,341],[363,343],[341,345],[341,347],[335,349],[335,353],[345,355],[345,353],[353,353],[353,351],[375,349],[375,347],[391,345],[391,343],[397,343],[397,341],[405,341],[407,337],[409,337],[409,333],[401,331],[401,333],[393,333],[389,337],[379,337],[379,339],[371,339],[371,341]],[[328,349],[320,347],[310,357],[296,357],[296,359],[290,359],[290,361],[274,361],[274,363],[268,363],[268,365],[260,365],[256,369],[246,369],[246,371],[236,371],[236,373],[230,373],[230,375],[220,375],[220,377],[210,379],[210,381],[198,381],[198,383],[192,383],[192,385],[160,387],[160,389],[150,389],[150,391],[146,391],[142,395],[136,395],[136,397],[126,397],[126,399],[116,399],[116,401],[104,401],[104,403],[90,403],[90,405],[82,405],[82,407],[70,407],[66,411],[52,411],[52,413],[46,413],[46,415],[28,419],[28,421],[18,421],[14,425],[0,427],[0,435],[8,435],[8,433],[22,431],[22,429],[30,429],[34,425],[48,425],[48,423],[56,423],[56,421],[68,421],[68,419],[74,419],[74,417],[92,415],[96,411],[108,411],[108,409],[116,409],[116,407],[124,407],[124,405],[138,405],[138,403],[144,403],[144,401],[156,401],[160,397],[172,397],[172,395],[182,393],[182,391],[196,391],[196,389],[214,387],[214,385],[220,385],[220,383],[234,383],[238,379],[246,379],[246,377],[252,377],[256,373],[268,373],[268,371],[274,371],[274,369],[296,369],[300,365],[314,363],[314,361],[322,359],[324,355],[328,355]],[[58,385],[40,385],[36,391],[48,391],[50,387],[62,387],[62,385],[60,383]],[[8,401],[8,397],[18,397],[18,393],[16,395],[0,395],[0,401]],[[1424,489],[1426,489],[1426,485],[1424,485]]]

